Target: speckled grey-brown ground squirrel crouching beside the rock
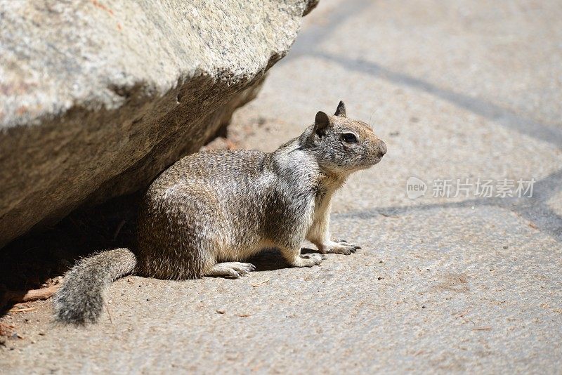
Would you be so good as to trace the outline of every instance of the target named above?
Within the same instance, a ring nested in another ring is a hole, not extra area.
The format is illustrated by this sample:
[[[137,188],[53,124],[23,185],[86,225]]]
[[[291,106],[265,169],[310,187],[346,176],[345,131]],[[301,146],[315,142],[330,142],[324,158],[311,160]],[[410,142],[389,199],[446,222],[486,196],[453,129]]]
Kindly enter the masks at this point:
[[[54,298],[55,319],[96,322],[105,287],[131,273],[240,277],[254,270],[241,261],[267,247],[280,249],[294,267],[318,265],[320,254],[355,252],[359,246],[330,239],[330,201],[351,173],[377,164],[385,153],[370,126],[348,119],[340,102],[334,116],[318,112],[313,125],[275,152],[184,157],[148,188],[134,251],[104,251],[67,272]],[[320,254],[302,256],[304,239]]]

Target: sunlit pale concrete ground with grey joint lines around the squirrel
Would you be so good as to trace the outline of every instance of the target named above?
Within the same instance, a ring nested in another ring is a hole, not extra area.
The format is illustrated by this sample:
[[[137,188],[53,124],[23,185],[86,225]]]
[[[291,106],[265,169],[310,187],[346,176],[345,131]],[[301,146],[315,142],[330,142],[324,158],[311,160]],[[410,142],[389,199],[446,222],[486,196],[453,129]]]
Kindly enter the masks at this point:
[[[23,337],[3,371],[561,373],[561,34],[558,1],[322,0],[230,133],[273,150],[340,99],[370,121],[388,154],[332,216],[362,251],[310,269],[268,252],[237,280],[128,277],[85,329],[30,304],[2,320]],[[446,178],[536,183],[433,197]]]

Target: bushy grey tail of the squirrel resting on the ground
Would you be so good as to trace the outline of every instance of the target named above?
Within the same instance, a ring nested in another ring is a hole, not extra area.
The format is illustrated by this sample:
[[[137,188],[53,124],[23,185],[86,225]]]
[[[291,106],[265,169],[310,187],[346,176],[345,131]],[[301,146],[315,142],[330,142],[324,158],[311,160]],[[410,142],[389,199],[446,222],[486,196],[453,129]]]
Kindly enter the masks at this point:
[[[84,324],[96,322],[103,310],[103,291],[113,280],[135,270],[136,256],[129,249],[104,251],[82,259],[65,275],[53,298],[55,319]]]

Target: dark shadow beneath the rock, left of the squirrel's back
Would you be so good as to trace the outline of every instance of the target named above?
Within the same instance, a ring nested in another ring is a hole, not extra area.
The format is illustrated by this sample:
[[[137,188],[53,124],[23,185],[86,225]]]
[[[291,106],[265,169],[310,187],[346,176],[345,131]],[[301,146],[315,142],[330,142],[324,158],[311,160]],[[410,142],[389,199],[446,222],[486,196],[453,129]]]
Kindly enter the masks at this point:
[[[131,248],[142,193],[82,207],[51,228],[32,231],[1,249],[0,316],[17,303],[13,296],[55,285],[79,258],[95,251]]]

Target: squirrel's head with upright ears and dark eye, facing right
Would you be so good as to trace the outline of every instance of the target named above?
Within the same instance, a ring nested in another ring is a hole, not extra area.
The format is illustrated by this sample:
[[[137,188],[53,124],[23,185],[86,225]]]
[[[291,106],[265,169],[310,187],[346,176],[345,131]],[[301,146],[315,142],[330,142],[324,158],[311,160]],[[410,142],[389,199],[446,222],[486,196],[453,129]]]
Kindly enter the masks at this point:
[[[336,176],[374,166],[386,154],[385,143],[369,125],[347,118],[344,102],[334,116],[316,114],[314,125],[301,136],[301,146],[315,155],[320,168]]]

